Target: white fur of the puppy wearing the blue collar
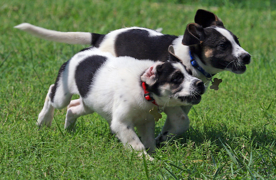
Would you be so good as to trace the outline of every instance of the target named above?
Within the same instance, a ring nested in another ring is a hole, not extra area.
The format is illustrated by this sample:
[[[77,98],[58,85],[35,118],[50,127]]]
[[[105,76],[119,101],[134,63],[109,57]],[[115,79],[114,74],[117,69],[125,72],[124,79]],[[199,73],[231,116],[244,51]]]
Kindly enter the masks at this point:
[[[23,28],[24,27],[24,28]],[[55,32],[55,31],[50,31],[48,30],[48,33],[50,35],[44,35],[45,29],[38,29],[38,31],[35,31],[33,29],[33,25],[30,24],[25,24],[24,26],[17,26],[16,28],[19,28],[23,31],[27,31],[31,34],[34,34],[36,36],[39,36],[41,38],[47,39],[48,36],[52,35],[53,37],[56,37],[56,39],[51,39],[52,41],[59,41],[59,42],[66,42],[69,44],[73,44],[75,41],[74,39],[70,39],[68,38],[68,35],[66,33],[64,34],[59,34],[60,32]],[[210,27],[210,28],[214,28],[214,27]],[[119,30],[115,30],[110,32],[109,34],[107,34],[103,41],[100,44],[100,50],[105,51],[105,52],[110,52],[113,56],[116,56],[115,54],[115,50],[114,50],[114,45],[115,45],[115,40],[116,37],[118,36],[118,34],[125,32],[129,29],[143,29],[149,32],[149,36],[150,37],[154,37],[154,36],[162,36],[163,34],[154,30],[150,30],[150,29],[146,29],[146,28],[138,28],[138,27],[132,27],[132,28],[123,28],[123,29],[119,29]],[[234,41],[233,37],[231,36],[231,34],[223,29],[223,28],[219,28],[219,27],[215,27],[215,29],[221,33],[224,37],[226,37],[232,44],[232,46],[234,47],[234,51],[233,51],[233,55],[236,57],[236,59],[239,60],[239,56],[242,53],[247,53],[246,51],[244,51],[240,46],[238,46],[236,44],[236,42]],[[39,30],[41,30],[41,32],[39,32]],[[86,33],[77,33],[77,35],[81,38],[84,38],[85,41],[83,40],[82,42],[79,42],[79,44],[91,44],[91,35],[88,35]],[[193,68],[191,63],[190,63],[190,55],[189,55],[189,47],[188,46],[184,46],[182,44],[182,39],[183,36],[179,36],[178,38],[176,38],[172,45],[175,49],[175,55],[178,56],[181,60],[182,63],[192,71],[193,76],[201,79],[206,86],[209,84],[210,81],[208,81],[206,79],[206,77],[199,72],[196,68]],[[216,74],[218,72],[223,71],[222,69],[217,69],[212,67],[210,64],[203,64],[198,57],[194,57],[197,61],[197,63],[208,73],[210,74]],[[237,64],[239,65],[239,64]],[[231,68],[229,67],[228,69],[225,69],[228,71],[232,71]],[[237,73],[237,72],[235,72]],[[165,113],[167,114],[167,120],[166,123],[161,131],[161,134],[156,138],[156,140],[158,142],[162,142],[164,140],[166,140],[167,138],[171,138],[171,134],[182,134],[184,133],[188,127],[189,127],[189,118],[187,116],[189,110],[191,109],[192,106],[182,106],[180,107],[167,107],[165,109]]]

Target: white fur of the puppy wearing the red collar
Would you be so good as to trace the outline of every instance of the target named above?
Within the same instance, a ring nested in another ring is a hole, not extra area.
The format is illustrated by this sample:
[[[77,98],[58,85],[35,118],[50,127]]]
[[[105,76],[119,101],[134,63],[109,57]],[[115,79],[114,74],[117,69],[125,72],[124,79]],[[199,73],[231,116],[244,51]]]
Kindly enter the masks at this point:
[[[79,94],[75,80],[76,67],[88,56],[100,55],[107,58],[94,75],[86,97],[71,100],[73,94]],[[54,85],[51,85],[46,96],[44,107],[39,114],[37,125],[51,126],[54,109],[62,109],[67,106],[65,128],[74,128],[76,119],[79,116],[97,112],[103,116],[110,129],[120,141],[127,147],[134,150],[146,152],[146,148],[153,151],[156,147],[155,121],[149,110],[154,106],[144,97],[144,90],[141,86],[141,75],[146,81],[150,80],[148,72],[157,73],[156,67],[164,62],[151,60],[136,60],[131,57],[113,57],[96,48],[79,52],[68,61],[64,71],[57,82],[54,98],[51,100],[51,93]],[[195,81],[199,79],[187,73],[180,63],[173,64],[175,69],[180,70],[184,75],[184,81],[180,84],[181,91],[171,94],[170,86],[162,86],[164,90],[161,96],[154,95],[154,98],[165,111],[168,107],[174,110],[180,109],[180,105],[188,105],[180,101],[179,96],[190,96],[194,91]],[[154,77],[155,81],[157,77]],[[147,83],[147,82],[146,82]],[[170,111],[170,110],[168,110]],[[181,117],[183,120],[188,117]],[[180,122],[181,123],[181,122]],[[187,125],[187,122],[183,125]],[[137,136],[134,126],[141,136]],[[169,126],[168,126],[169,127]],[[174,127],[172,133],[182,131],[180,127]],[[148,158],[151,159],[150,156]]]

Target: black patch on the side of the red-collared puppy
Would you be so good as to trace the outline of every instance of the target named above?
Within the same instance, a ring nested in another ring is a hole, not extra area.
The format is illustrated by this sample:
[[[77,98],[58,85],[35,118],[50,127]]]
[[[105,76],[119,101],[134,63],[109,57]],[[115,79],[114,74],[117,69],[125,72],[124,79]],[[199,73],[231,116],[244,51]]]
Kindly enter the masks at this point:
[[[105,61],[106,57],[90,56],[76,67],[75,80],[81,97],[87,96],[96,71]]]

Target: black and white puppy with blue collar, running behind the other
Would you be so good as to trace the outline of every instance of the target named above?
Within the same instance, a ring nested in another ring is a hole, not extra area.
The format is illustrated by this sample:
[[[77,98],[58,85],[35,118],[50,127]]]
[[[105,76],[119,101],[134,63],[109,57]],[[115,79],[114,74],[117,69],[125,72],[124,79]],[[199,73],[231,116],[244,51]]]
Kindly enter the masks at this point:
[[[250,62],[250,55],[240,47],[237,37],[224,28],[221,20],[213,13],[198,10],[195,23],[187,25],[183,36],[164,35],[146,28],[123,28],[106,35],[82,32],[57,32],[27,23],[16,28],[44,39],[69,44],[91,44],[101,51],[110,52],[113,56],[130,56],[136,59],[167,61],[168,47],[173,45],[175,54],[182,63],[191,69],[192,75],[204,83],[209,80],[190,61],[191,55],[209,74],[221,71],[244,73],[245,65]],[[170,134],[182,134],[189,127],[187,116],[192,106],[166,108],[167,120],[157,137],[164,141]]]

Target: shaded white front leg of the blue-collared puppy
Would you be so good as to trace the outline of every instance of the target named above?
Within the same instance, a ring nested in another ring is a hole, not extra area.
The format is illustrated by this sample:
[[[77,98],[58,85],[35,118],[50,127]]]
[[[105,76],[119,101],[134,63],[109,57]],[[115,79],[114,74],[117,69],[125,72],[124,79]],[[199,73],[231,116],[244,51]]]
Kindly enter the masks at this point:
[[[187,107],[185,111],[180,106],[166,107],[164,109],[167,119],[161,133],[156,137],[158,145],[167,139],[171,139],[173,135],[181,135],[188,130],[190,120],[185,112],[188,113],[191,107]]]

